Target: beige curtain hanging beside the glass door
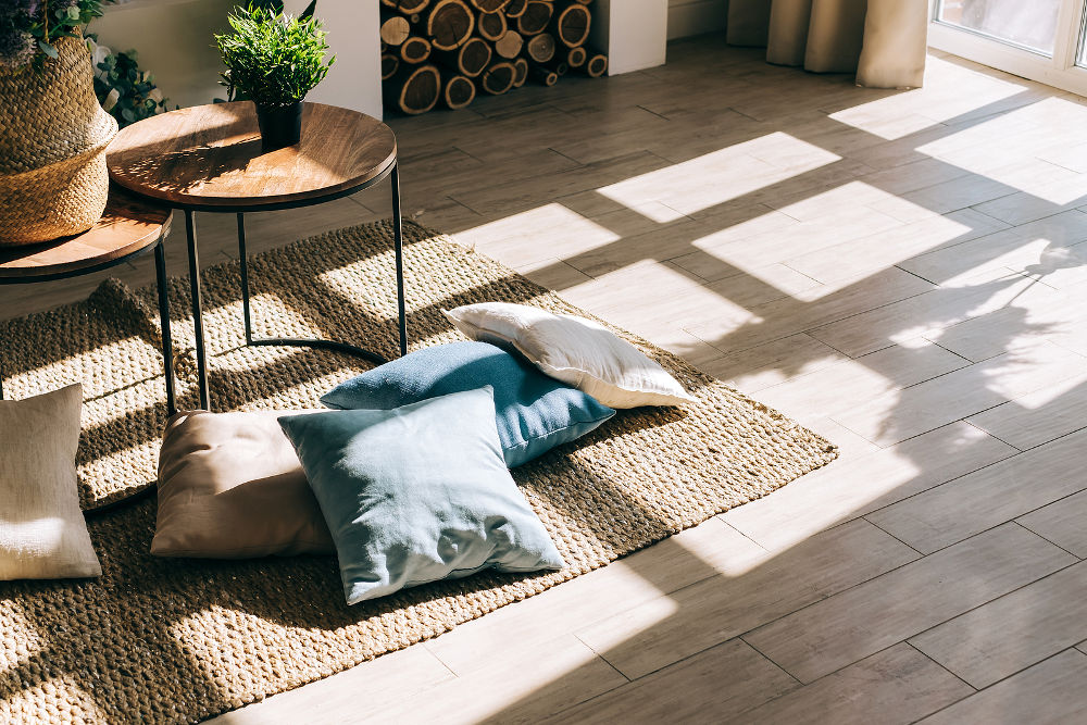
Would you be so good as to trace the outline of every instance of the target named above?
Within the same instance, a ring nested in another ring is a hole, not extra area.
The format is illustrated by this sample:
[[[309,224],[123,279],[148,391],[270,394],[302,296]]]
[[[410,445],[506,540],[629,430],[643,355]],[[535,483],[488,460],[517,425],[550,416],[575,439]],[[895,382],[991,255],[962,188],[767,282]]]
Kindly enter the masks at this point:
[[[859,86],[916,88],[925,78],[927,0],[729,0],[728,43],[766,61],[857,73]]]

